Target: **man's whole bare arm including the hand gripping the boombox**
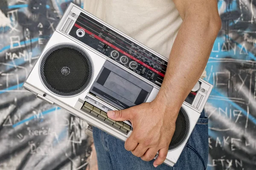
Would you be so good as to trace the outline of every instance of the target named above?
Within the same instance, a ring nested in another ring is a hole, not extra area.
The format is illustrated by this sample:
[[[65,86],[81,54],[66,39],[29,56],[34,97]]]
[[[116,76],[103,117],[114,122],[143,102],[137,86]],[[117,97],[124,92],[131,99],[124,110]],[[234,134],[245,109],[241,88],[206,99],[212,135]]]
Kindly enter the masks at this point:
[[[166,159],[175,131],[177,114],[200,78],[221,28],[217,0],[174,0],[183,19],[170,53],[163,84],[157,97],[121,111],[109,111],[116,121],[130,120],[133,132],[125,149],[145,161],[159,151],[154,166]]]

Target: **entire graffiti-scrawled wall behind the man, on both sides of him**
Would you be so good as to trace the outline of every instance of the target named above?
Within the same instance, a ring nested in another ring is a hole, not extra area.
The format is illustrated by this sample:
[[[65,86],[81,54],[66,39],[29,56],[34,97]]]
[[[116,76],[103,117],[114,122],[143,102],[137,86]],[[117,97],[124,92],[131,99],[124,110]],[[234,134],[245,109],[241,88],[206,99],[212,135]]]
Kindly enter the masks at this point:
[[[90,161],[87,123],[22,88],[69,2],[0,0],[0,170],[81,170]],[[255,170],[256,0],[219,0],[218,9],[208,169]]]

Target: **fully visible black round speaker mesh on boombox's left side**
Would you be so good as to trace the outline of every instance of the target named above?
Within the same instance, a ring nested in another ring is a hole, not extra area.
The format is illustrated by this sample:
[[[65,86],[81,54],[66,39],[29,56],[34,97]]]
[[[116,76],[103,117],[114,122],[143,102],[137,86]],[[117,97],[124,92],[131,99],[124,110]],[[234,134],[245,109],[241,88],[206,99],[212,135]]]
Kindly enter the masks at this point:
[[[58,45],[43,57],[40,67],[46,87],[61,96],[73,96],[83,91],[92,77],[89,56],[74,45]]]

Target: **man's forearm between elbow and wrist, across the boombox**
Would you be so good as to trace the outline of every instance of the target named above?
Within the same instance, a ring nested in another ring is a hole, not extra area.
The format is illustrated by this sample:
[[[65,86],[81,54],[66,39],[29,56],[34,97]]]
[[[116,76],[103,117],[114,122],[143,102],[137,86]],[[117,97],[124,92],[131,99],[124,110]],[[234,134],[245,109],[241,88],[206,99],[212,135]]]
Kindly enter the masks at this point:
[[[185,17],[172,47],[156,97],[166,109],[180,107],[201,77],[221,23],[209,17]]]

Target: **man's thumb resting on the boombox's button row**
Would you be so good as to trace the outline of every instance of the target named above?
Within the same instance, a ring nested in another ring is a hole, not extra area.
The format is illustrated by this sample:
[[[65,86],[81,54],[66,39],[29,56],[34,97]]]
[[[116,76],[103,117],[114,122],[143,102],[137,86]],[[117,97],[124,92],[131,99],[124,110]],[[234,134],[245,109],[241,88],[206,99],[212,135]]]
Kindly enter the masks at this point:
[[[115,121],[125,121],[130,120],[129,109],[119,110],[119,111],[108,111],[108,117]]]

